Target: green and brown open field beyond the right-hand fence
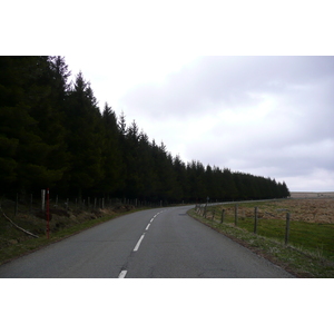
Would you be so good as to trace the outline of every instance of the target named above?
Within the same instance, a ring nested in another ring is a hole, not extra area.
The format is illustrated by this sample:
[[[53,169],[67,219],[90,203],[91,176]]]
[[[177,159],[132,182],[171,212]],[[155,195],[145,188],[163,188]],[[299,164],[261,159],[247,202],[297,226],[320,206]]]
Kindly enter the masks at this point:
[[[238,203],[237,226],[254,232],[255,209],[258,207],[257,234],[284,243],[286,214],[291,214],[288,243],[306,252],[334,261],[334,198],[286,199]],[[207,218],[235,224],[235,204],[208,207]]]

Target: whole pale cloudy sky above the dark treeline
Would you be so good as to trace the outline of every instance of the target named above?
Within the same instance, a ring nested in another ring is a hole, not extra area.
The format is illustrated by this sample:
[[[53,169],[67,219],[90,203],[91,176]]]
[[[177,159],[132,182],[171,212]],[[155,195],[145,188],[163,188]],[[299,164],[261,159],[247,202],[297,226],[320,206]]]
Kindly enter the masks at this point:
[[[334,190],[334,57],[76,58],[108,102],[173,156]]]

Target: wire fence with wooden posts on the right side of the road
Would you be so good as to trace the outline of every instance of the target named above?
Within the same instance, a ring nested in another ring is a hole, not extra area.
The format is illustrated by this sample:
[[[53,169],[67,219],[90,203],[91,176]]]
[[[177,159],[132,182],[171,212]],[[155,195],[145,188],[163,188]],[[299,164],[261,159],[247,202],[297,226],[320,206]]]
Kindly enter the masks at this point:
[[[286,202],[264,205],[255,202],[202,204],[195,206],[195,212],[217,227],[229,224],[255,235],[275,238],[285,245],[305,247],[334,259],[334,224],[305,222],[301,213],[297,215],[296,210],[288,206],[286,208],[284,204]],[[306,209],[304,210],[306,216]],[[316,217],[315,214],[308,214],[310,216]]]

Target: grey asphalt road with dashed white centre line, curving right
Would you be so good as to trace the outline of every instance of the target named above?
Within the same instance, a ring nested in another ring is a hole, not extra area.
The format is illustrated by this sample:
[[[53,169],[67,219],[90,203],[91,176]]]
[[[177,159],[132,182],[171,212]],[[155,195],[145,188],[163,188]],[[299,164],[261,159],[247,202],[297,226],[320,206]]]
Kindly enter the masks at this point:
[[[0,266],[0,277],[294,277],[193,219],[189,208],[149,209],[109,220]]]

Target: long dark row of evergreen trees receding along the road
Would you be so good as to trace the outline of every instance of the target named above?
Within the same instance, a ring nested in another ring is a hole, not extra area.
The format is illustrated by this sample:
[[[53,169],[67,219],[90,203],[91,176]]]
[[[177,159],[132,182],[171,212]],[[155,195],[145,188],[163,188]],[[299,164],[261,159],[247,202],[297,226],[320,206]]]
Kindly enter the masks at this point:
[[[185,164],[134,120],[100,110],[62,57],[0,57],[0,195],[49,187],[63,196],[205,202],[289,196],[285,183]]]

